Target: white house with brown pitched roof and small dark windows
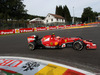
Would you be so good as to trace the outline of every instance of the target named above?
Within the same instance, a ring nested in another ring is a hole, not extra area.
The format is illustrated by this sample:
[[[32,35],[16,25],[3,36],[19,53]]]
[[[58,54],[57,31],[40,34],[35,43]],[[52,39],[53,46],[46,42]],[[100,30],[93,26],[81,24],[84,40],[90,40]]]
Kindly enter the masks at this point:
[[[65,19],[60,15],[49,13],[44,19],[44,24],[50,24],[50,23],[65,23]]]

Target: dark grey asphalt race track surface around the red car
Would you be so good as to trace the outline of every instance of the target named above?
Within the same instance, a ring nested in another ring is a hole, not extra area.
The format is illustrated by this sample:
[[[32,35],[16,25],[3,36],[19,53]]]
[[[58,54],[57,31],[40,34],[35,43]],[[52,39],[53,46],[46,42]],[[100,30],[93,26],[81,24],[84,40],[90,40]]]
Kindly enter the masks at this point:
[[[97,49],[83,49],[82,51],[72,48],[28,50],[27,37],[33,34],[43,37],[52,33],[62,37],[81,36],[84,39],[91,39],[97,44]],[[34,57],[100,73],[100,27],[98,25],[98,27],[83,29],[61,29],[0,36],[0,56]]]

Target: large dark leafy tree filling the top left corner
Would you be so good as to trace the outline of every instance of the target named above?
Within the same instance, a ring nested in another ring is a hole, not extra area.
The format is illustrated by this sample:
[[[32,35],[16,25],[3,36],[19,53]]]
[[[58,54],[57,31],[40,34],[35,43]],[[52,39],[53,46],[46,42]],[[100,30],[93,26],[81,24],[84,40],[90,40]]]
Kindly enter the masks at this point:
[[[27,13],[22,0],[0,0],[0,13],[3,13],[4,19],[21,19],[23,14]]]

